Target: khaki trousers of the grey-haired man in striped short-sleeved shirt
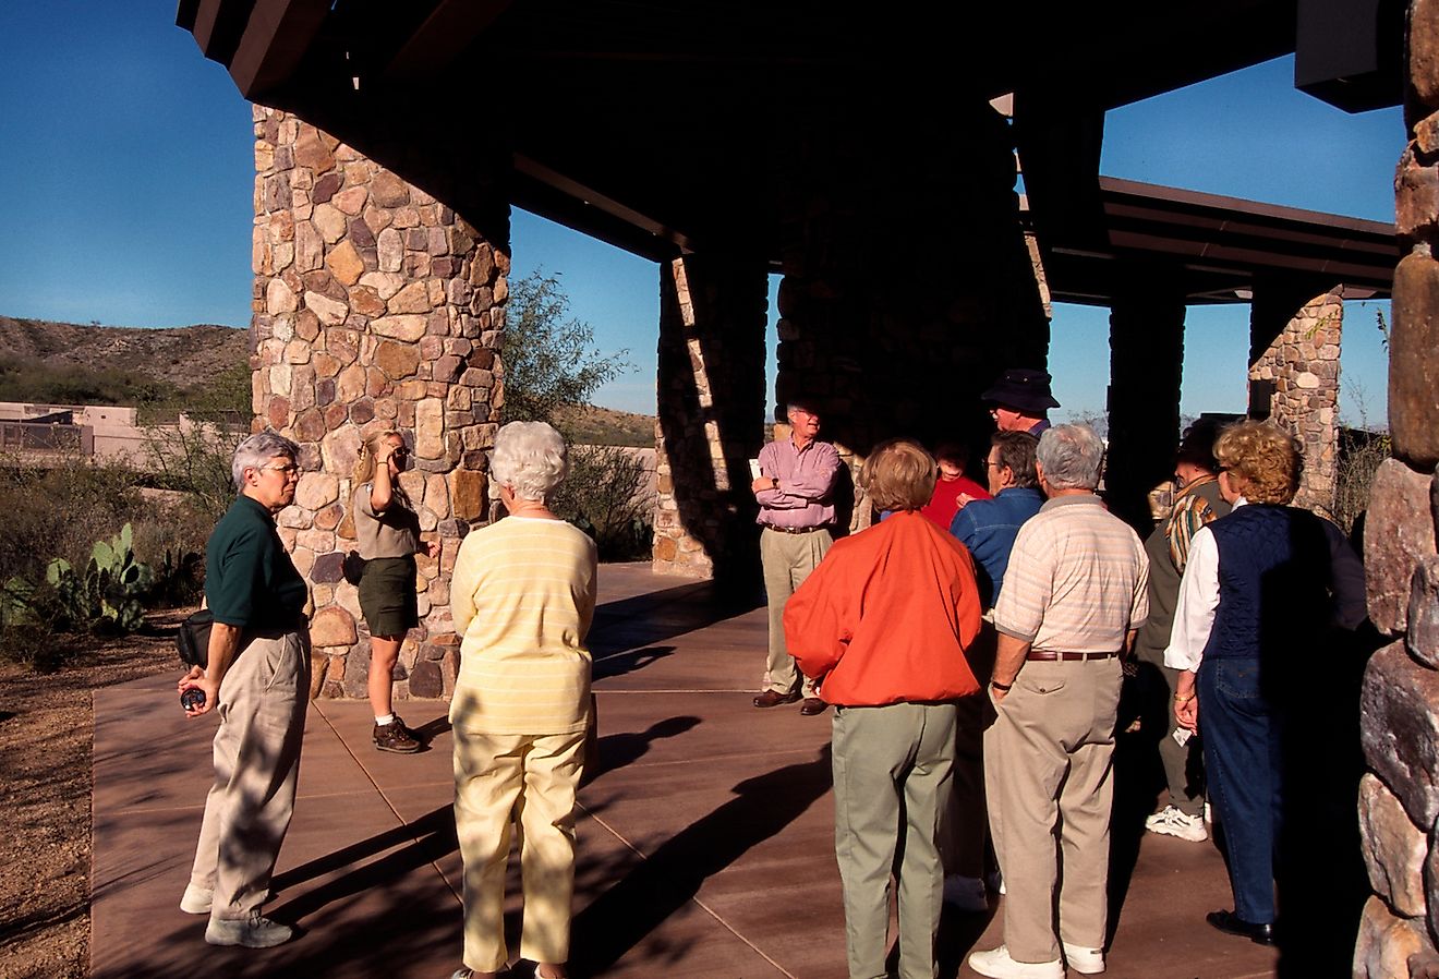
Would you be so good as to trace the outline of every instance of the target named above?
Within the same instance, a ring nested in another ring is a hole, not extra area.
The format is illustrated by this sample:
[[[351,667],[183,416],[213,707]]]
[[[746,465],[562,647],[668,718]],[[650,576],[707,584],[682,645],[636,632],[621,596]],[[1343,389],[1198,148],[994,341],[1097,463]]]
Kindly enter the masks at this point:
[[[1053,962],[1059,939],[1104,947],[1120,680],[1117,657],[1029,661],[984,734],[1004,944],[1016,962]]]

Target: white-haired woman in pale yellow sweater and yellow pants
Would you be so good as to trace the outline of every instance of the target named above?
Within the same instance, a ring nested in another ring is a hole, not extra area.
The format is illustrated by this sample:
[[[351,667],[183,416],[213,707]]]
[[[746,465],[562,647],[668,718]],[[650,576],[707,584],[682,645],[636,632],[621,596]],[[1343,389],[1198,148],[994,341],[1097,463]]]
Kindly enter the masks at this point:
[[[593,540],[545,505],[567,469],[564,439],[544,422],[499,429],[489,471],[509,515],[465,538],[450,580],[463,636],[450,724],[465,861],[465,967],[452,979],[494,979],[509,962],[505,862],[517,812],[519,956],[538,963],[541,979],[563,979],[570,957],[597,556]]]

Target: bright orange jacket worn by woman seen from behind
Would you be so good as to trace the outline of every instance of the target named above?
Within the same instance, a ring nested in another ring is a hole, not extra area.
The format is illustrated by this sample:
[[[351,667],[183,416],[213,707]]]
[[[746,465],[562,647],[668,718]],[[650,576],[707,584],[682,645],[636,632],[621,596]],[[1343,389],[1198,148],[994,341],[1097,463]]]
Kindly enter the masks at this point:
[[[845,707],[979,692],[974,563],[918,511],[835,543],[784,606],[784,641],[820,697]]]

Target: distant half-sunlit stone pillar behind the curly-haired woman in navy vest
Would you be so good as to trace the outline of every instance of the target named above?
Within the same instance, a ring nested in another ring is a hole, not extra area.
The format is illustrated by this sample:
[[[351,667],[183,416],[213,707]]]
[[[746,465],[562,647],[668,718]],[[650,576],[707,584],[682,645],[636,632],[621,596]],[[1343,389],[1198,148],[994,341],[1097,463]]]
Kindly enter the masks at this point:
[[[1302,289],[1299,294],[1308,292]],[[1304,478],[1294,505],[1333,515],[1338,464],[1340,341],[1344,331],[1343,289],[1309,294],[1295,307],[1292,291],[1279,301],[1255,291],[1249,356],[1250,412],[1268,409],[1304,446]],[[1269,301],[1266,301],[1269,299]],[[1262,348],[1274,321],[1288,317]],[[1268,405],[1262,403],[1268,399]]]

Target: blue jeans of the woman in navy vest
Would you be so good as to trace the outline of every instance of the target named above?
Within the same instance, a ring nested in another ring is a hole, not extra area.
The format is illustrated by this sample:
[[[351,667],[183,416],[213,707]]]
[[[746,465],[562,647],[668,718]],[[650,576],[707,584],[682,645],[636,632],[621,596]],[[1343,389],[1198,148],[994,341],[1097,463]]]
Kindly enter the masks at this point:
[[[1197,684],[1204,772],[1229,844],[1235,914],[1272,924],[1282,721],[1259,690],[1258,659],[1206,658]]]

